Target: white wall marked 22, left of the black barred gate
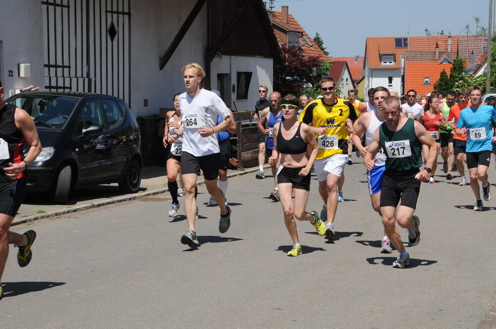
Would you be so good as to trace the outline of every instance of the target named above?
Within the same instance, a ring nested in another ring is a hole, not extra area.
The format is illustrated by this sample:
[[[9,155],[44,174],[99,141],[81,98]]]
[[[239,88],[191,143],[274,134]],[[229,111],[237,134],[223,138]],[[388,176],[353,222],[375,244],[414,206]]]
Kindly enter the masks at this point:
[[[5,98],[9,95],[9,89],[29,85],[44,89],[41,1],[1,1],[1,5],[0,79],[5,89]],[[19,63],[31,64],[31,77],[19,77]],[[9,70],[13,77],[8,76]]]

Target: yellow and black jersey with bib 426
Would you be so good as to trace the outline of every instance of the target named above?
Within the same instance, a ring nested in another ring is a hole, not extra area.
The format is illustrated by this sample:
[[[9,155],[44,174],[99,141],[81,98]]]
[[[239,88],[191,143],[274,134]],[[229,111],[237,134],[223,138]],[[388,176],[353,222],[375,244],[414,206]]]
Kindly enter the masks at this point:
[[[348,130],[346,120],[358,118],[354,106],[342,99],[336,98],[334,105],[326,105],[323,99],[315,100],[307,105],[300,114],[300,121],[313,127],[327,128],[324,135],[315,135],[317,139],[317,160],[329,158],[335,154],[346,154],[348,150]]]

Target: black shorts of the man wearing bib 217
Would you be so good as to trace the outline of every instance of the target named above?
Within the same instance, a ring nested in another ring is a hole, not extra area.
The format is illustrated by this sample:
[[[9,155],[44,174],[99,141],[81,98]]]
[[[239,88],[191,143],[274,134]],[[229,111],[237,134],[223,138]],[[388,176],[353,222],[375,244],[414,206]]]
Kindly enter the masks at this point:
[[[386,169],[382,178],[380,207],[401,206],[416,209],[419,199],[420,180],[415,179],[418,171],[391,172]]]

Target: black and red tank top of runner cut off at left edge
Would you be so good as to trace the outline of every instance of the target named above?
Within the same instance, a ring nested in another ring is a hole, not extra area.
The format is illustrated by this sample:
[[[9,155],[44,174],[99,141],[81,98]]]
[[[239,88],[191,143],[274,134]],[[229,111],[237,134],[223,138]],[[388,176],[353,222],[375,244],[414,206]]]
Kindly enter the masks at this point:
[[[0,109],[0,181],[2,182],[11,180],[5,175],[3,168],[8,167],[9,162],[18,164],[22,161],[21,150],[24,137],[15,125],[15,109],[16,106],[12,104],[7,104]],[[25,177],[24,171],[16,178],[23,177]]]

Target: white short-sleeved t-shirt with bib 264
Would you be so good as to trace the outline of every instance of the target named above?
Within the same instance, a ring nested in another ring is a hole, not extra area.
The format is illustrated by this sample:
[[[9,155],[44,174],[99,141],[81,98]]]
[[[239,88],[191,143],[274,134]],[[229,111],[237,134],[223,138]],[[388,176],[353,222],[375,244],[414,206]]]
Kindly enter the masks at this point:
[[[179,107],[183,116],[183,152],[195,157],[219,153],[217,134],[201,137],[197,130],[215,127],[217,115],[223,119],[231,115],[222,99],[211,91],[200,89],[194,98],[187,92],[179,95]]]

